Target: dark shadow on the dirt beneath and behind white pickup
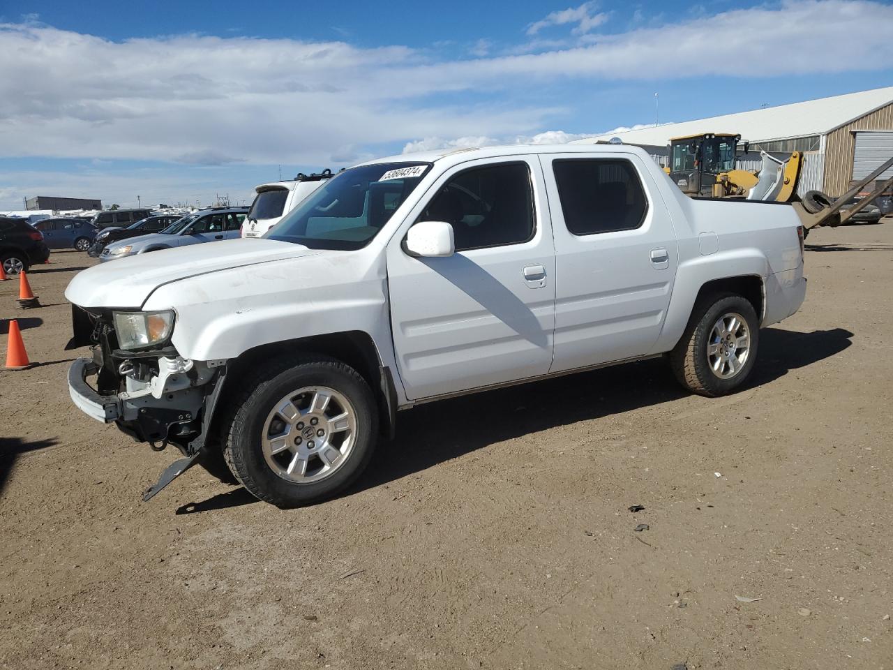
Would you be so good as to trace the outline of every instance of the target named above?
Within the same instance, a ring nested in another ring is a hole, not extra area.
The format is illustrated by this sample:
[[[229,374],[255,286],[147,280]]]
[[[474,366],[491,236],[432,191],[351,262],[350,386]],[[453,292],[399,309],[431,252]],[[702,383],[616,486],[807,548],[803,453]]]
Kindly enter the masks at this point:
[[[836,356],[853,337],[842,328],[813,332],[769,328],[760,334],[759,359],[746,389]],[[496,442],[687,395],[665,361],[651,359],[418,406],[398,415],[396,440],[380,448],[369,470],[346,495]]]

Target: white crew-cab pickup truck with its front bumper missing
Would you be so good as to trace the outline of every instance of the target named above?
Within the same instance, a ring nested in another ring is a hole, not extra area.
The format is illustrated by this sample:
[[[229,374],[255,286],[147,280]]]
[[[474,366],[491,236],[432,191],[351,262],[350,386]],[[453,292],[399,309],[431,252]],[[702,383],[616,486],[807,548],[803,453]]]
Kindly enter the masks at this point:
[[[80,272],[70,346],[94,348],[71,398],[183,453],[146,499],[225,459],[256,497],[303,505],[419,403],[662,355],[696,393],[739,387],[759,329],[804,300],[799,223],[686,197],[636,147],[363,163],[263,239]]]

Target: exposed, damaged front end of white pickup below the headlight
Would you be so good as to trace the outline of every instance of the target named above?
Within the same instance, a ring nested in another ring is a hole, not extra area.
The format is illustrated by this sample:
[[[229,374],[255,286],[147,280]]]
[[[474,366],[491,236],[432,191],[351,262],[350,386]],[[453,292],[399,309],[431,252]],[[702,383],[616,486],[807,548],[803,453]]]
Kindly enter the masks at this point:
[[[68,373],[71,400],[84,414],[102,423],[115,423],[131,438],[149,442],[155,450],[173,444],[183,454],[184,458],[168,466],[158,482],[146,490],[144,501],[195,465],[202,455],[226,373],[224,361],[198,363],[176,356],[172,349],[163,354],[114,351],[109,356],[97,346],[92,358],[76,359]],[[118,364],[121,358],[124,360]],[[138,369],[132,361],[140,358],[151,361],[152,374],[145,381],[128,375]],[[124,390],[118,393],[104,393],[88,383],[93,376],[98,382],[104,366],[110,363],[117,364],[115,373],[121,373]]]

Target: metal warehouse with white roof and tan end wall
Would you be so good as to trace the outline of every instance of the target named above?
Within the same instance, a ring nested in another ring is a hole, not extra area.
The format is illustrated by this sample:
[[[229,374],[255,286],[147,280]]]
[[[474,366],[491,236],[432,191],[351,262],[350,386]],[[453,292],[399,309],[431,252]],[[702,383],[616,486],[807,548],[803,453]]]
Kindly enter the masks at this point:
[[[840,196],[852,180],[867,177],[893,155],[893,87],[628,130],[574,144],[617,137],[625,144],[664,147],[671,138],[704,132],[740,134],[742,141],[750,142],[751,152],[805,152],[797,190],[802,194],[817,188]]]

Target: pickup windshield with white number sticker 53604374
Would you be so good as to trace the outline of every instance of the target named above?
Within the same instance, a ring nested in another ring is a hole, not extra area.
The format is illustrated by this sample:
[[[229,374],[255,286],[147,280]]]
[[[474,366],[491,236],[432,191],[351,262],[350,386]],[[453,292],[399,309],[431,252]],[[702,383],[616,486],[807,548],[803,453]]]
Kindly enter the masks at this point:
[[[312,249],[363,248],[429,169],[428,163],[376,163],[339,172],[263,237]]]

